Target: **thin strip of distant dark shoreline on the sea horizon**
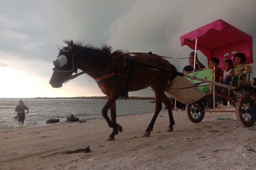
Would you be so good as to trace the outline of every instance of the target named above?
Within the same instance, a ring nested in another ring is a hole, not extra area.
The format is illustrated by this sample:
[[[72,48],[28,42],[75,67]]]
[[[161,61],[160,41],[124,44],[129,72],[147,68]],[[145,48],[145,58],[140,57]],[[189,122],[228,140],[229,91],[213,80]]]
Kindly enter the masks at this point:
[[[107,99],[107,96],[91,96],[91,97],[36,97],[33,99]],[[119,97],[118,99],[124,99],[124,97]],[[171,99],[168,97],[168,99]],[[155,100],[155,97],[137,97],[129,96],[126,100]]]

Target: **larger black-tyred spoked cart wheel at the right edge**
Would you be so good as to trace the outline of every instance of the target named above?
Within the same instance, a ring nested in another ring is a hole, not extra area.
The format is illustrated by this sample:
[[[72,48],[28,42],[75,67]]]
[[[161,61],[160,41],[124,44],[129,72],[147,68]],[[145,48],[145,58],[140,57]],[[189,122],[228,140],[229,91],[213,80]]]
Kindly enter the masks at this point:
[[[251,127],[256,121],[255,103],[250,96],[242,96],[236,102],[236,119],[245,127]]]

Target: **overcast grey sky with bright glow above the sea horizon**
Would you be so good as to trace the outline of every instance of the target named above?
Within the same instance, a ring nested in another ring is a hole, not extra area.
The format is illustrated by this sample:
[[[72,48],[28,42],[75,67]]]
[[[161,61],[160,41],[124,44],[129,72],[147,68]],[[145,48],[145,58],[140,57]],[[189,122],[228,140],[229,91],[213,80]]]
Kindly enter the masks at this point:
[[[222,19],[256,37],[255,0],[0,0],[0,98],[103,96],[82,75],[63,87],[49,85],[63,39],[114,50],[188,57],[180,36]],[[255,52],[255,43],[253,51]],[[198,52],[199,60],[207,64]],[[187,59],[169,59],[179,71]],[[255,69],[254,69],[255,70]],[[255,73],[254,73],[255,75]],[[151,90],[130,96],[154,96]]]

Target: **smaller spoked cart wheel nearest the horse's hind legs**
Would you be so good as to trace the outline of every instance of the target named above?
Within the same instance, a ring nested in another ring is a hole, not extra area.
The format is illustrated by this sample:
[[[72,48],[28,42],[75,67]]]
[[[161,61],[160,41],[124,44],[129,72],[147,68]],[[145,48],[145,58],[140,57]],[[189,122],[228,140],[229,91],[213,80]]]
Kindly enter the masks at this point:
[[[186,113],[191,122],[198,123],[204,119],[204,104],[202,102],[195,102],[186,105]]]

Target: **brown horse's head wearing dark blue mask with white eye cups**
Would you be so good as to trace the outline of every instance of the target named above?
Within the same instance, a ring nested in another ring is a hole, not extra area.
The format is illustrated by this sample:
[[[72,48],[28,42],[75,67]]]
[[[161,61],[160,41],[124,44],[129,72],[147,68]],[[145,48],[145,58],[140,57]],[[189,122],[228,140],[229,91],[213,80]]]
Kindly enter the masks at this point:
[[[60,50],[57,59],[53,61],[54,68],[52,77],[49,81],[50,85],[55,88],[62,87],[62,83],[68,81],[67,77],[76,72],[74,68],[74,58],[72,53],[73,41],[71,40],[67,47]]]

